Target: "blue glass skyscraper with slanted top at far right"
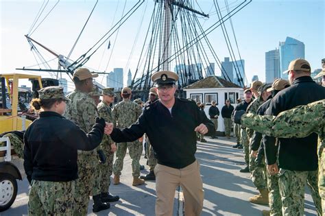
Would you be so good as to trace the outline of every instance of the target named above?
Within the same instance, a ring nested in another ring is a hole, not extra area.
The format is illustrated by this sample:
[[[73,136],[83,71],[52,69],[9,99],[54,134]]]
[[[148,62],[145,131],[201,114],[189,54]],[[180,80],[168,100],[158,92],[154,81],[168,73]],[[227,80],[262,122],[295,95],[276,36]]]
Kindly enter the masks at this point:
[[[280,73],[282,79],[287,80],[288,75],[283,74],[283,71],[288,69],[289,63],[296,58],[304,59],[304,43],[294,38],[287,37],[285,42],[279,44],[280,53]]]

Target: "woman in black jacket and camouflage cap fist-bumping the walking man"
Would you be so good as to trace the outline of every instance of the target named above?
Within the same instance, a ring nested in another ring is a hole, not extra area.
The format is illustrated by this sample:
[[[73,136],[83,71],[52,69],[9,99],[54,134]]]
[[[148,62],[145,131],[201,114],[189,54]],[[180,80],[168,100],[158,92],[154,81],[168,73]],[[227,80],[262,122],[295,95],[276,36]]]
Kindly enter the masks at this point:
[[[73,215],[77,149],[91,151],[103,137],[105,121],[97,118],[86,134],[64,119],[66,108],[62,86],[42,88],[32,100],[36,110],[43,108],[24,134],[24,169],[31,184],[28,215]]]

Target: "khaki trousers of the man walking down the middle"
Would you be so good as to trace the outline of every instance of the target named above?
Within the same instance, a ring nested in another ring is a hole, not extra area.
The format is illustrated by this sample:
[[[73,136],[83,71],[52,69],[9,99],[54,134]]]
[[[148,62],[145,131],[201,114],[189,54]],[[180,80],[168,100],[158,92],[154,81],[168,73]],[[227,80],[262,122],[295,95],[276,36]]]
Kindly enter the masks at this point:
[[[185,215],[201,215],[204,190],[200,175],[200,164],[194,163],[182,169],[157,164],[156,175],[156,215],[173,215],[173,199],[178,186],[184,194]]]

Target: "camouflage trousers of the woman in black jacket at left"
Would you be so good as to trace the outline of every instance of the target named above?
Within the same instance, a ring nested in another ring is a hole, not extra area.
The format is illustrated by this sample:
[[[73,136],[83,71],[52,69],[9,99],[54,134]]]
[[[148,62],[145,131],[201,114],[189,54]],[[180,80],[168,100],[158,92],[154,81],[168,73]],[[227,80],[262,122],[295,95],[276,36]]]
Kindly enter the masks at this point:
[[[28,215],[72,215],[75,181],[45,182],[32,180]]]

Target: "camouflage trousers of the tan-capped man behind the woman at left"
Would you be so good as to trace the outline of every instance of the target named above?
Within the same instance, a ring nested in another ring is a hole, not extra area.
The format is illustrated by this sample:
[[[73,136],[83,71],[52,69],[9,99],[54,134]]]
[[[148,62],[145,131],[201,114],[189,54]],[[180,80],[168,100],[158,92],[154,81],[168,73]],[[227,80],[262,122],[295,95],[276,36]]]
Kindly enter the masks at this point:
[[[99,180],[97,178],[98,159],[95,155],[78,154],[78,176],[75,181],[75,208],[73,215],[86,215],[88,212],[89,196],[97,195],[99,191]],[[96,187],[96,185],[98,185]]]

